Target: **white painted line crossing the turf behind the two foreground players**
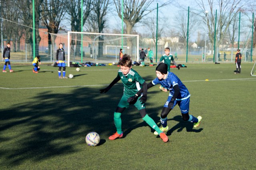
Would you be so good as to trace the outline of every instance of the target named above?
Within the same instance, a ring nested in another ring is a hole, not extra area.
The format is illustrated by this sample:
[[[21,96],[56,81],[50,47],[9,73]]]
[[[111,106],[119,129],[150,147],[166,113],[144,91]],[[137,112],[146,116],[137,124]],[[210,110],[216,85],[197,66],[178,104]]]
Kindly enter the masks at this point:
[[[208,80],[208,81],[256,81],[256,78],[241,78],[241,79],[215,79],[215,80]],[[198,82],[198,81],[205,81],[205,80],[188,80],[182,82]],[[0,87],[0,89],[7,89],[7,90],[16,90],[16,89],[50,89],[50,88],[68,88],[68,87],[94,87],[94,86],[105,86],[108,84],[101,84],[101,85],[72,85],[72,86],[52,86],[52,87],[21,87],[21,88],[6,88]],[[118,83],[116,85],[122,85],[122,83]]]

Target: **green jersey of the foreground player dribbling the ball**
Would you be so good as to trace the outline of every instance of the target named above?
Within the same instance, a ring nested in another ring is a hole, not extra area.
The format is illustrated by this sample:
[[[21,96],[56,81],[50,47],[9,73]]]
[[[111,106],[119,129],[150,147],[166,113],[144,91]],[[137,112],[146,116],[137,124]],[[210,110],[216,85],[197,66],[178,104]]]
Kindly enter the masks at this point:
[[[142,88],[142,84],[145,82],[134,69],[130,69],[129,73],[126,75],[119,69],[118,75],[124,84],[124,95],[128,97],[134,96]]]

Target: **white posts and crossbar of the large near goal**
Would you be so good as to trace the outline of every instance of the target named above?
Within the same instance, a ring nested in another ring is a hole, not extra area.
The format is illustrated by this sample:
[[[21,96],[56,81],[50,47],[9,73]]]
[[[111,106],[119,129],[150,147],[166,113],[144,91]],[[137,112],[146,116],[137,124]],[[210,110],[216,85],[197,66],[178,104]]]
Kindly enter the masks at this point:
[[[108,33],[94,33],[94,32],[73,32],[68,31],[68,67],[70,67],[70,34],[87,34],[87,35],[98,35],[98,36],[129,36],[129,37],[137,37],[137,61],[139,61],[139,35],[136,34],[108,34]]]

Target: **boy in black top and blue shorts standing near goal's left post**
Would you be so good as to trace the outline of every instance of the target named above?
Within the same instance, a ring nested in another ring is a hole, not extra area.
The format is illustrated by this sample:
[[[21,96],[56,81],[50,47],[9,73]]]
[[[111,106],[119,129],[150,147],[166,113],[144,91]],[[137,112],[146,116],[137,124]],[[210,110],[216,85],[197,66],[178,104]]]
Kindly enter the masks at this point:
[[[56,62],[58,63],[58,67],[59,67],[59,71],[58,71],[59,79],[62,79],[61,67],[63,67],[63,71],[62,71],[63,78],[66,79],[68,77],[66,77],[65,51],[62,47],[63,47],[63,44],[60,43],[59,49],[57,49],[57,52],[56,52]]]

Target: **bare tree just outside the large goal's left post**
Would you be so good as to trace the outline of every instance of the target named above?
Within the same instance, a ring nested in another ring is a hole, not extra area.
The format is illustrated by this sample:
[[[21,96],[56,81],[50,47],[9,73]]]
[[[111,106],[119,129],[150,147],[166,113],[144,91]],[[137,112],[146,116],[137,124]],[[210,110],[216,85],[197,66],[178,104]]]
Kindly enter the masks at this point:
[[[66,14],[66,5],[61,0],[43,0],[41,4],[41,18],[46,26],[48,33],[57,34],[60,22]],[[52,44],[51,34],[48,34],[48,55]]]

